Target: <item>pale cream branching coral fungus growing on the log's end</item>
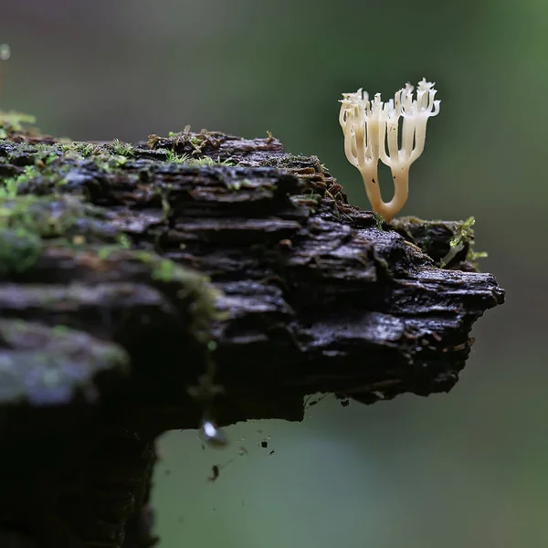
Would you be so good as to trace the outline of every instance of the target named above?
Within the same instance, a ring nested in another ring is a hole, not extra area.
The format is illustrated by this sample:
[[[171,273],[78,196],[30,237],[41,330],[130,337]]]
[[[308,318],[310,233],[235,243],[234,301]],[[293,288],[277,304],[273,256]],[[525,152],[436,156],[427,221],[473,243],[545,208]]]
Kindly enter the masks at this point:
[[[418,82],[395,92],[394,100],[383,102],[380,93],[369,100],[366,91],[343,93],[339,122],[344,133],[344,153],[364,178],[365,192],[374,211],[390,221],[406,205],[409,167],[423,153],[427,121],[439,112],[434,83]],[[400,132],[400,118],[403,118]],[[400,148],[401,146],[401,148]],[[379,158],[392,171],[394,197],[383,202],[378,184]]]

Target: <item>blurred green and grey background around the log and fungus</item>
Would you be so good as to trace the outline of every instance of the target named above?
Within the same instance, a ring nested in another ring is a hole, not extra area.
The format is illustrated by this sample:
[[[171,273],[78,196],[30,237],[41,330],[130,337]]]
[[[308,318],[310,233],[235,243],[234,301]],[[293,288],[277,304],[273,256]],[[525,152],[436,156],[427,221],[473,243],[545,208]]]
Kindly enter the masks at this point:
[[[546,0],[1,0],[0,42],[0,106],[45,132],[269,130],[363,206],[340,94],[435,80],[404,214],[476,216],[481,266],[508,291],[460,382],[370,407],[325,399],[302,424],[229,428],[222,452],[172,432],[157,531],[164,548],[548,545]]]

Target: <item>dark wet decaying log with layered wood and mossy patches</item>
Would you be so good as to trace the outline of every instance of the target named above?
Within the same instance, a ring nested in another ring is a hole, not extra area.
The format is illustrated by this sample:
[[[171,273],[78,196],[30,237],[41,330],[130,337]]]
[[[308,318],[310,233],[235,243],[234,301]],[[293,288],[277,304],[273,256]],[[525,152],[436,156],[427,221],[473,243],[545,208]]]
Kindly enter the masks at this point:
[[[163,431],[300,420],[316,392],[448,391],[503,301],[470,222],[387,225],[272,136],[3,127],[0,534],[16,546],[151,545]]]

